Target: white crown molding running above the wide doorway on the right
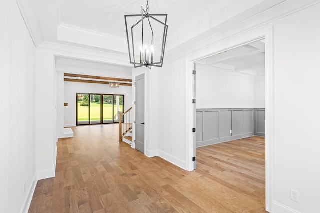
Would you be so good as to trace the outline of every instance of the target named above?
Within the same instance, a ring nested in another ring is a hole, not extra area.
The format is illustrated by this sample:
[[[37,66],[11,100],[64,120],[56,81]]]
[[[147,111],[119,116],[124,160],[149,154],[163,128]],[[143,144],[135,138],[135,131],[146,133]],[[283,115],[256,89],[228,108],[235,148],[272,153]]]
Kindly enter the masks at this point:
[[[264,30],[263,27],[269,27],[273,21],[289,16],[295,12],[320,3],[320,0],[273,0],[277,3],[260,11],[259,13],[248,17],[242,21],[235,22],[229,25],[224,25],[221,30],[220,25],[213,26],[207,31],[198,34],[197,36],[166,50],[166,63],[183,57],[192,57],[192,54],[197,54],[207,48],[208,41],[210,45],[216,46],[225,39],[230,39],[235,35],[246,34],[252,30]],[[210,52],[212,54],[212,52]],[[201,59],[201,58],[199,58]]]

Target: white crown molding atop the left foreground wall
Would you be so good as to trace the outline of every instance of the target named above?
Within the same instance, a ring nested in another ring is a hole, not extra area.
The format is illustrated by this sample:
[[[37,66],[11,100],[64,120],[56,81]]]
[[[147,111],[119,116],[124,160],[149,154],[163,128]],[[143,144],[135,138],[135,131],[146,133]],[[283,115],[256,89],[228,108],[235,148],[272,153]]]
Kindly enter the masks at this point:
[[[38,47],[43,41],[43,34],[38,19],[38,15],[34,8],[33,0],[15,0],[24,23],[29,31],[32,41]]]

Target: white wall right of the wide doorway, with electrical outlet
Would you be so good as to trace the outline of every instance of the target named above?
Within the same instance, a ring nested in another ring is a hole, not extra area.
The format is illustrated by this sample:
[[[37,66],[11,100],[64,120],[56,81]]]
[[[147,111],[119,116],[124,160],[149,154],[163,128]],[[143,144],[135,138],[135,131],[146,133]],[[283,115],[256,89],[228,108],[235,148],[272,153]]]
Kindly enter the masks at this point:
[[[319,211],[319,11],[274,22],[274,201],[300,212]]]

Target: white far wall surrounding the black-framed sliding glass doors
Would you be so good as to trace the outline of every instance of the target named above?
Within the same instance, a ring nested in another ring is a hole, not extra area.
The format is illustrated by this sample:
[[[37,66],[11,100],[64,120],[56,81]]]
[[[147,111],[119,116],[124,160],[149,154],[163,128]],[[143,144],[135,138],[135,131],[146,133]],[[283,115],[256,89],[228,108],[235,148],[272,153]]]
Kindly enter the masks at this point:
[[[64,126],[76,126],[76,93],[124,94],[124,111],[132,107],[132,87],[111,88],[109,84],[64,81]]]

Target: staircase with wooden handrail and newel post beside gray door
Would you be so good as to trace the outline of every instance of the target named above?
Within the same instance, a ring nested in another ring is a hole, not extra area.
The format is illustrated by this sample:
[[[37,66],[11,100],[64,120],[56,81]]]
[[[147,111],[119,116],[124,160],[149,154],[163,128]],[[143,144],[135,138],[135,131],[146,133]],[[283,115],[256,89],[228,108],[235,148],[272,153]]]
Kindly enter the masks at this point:
[[[132,144],[131,110],[132,107],[126,110],[123,114],[119,112],[119,142]]]

